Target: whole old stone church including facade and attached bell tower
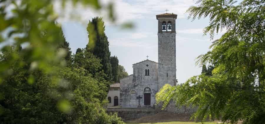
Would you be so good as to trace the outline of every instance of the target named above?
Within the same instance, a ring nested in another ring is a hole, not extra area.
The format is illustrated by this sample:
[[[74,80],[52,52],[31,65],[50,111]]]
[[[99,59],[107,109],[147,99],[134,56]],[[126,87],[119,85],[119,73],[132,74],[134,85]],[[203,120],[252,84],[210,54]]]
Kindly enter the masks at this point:
[[[135,63],[132,66],[133,74],[120,79],[120,94],[116,95],[120,97],[118,98],[120,107],[153,107],[155,94],[161,87],[165,84],[176,85],[177,15],[158,14],[156,19],[158,20],[158,62],[147,59]]]

